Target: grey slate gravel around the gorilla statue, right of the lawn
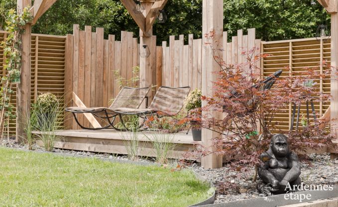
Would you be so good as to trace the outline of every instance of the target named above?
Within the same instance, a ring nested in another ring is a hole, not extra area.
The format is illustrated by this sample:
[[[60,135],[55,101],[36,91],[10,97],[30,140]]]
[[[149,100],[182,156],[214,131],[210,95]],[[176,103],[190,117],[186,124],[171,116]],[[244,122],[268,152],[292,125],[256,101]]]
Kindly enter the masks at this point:
[[[300,175],[304,185],[311,184],[326,184],[338,185],[338,160],[330,160],[330,154],[311,154],[312,165],[301,163]],[[237,179],[238,172],[228,172],[228,166],[225,165],[220,169],[203,169],[197,165],[193,166],[196,173],[207,178],[217,187],[220,182],[224,182],[225,177],[229,177],[228,181],[237,184],[238,191],[228,191],[227,195],[216,191],[215,204],[239,201],[243,199],[257,198],[258,192],[256,190],[256,183],[252,181],[254,170],[242,174],[242,178]]]

